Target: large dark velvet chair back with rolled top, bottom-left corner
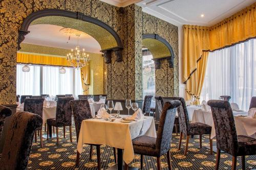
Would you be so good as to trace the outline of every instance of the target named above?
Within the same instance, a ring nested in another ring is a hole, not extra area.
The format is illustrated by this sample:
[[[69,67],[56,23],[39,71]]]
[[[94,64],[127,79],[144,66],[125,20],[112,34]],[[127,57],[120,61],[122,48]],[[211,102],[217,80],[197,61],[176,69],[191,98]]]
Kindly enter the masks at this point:
[[[27,169],[35,130],[42,126],[42,118],[29,112],[17,112],[10,118],[1,169]]]

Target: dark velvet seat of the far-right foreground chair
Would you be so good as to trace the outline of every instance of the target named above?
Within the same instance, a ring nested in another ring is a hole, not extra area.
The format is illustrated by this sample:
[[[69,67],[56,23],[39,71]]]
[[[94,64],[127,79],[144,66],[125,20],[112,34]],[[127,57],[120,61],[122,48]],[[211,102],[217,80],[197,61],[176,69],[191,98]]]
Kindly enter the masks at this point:
[[[238,156],[256,155],[256,139],[238,135]]]

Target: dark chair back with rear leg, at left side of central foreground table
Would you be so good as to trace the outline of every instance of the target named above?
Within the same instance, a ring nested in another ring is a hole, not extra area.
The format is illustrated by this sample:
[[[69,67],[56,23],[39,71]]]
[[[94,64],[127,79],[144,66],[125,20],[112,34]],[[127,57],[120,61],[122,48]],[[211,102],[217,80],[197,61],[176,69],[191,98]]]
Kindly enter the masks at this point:
[[[78,141],[82,120],[92,118],[90,104],[86,99],[70,101],[70,105],[74,115],[76,128],[76,141]]]

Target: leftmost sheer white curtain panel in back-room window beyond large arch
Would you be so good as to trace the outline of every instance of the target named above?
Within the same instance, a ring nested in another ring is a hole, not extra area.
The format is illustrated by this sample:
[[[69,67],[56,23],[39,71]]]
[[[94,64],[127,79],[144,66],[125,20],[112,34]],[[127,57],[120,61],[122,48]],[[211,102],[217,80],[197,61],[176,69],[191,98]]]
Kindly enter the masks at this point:
[[[17,64],[16,93],[19,95],[40,95],[40,66],[29,65],[29,72],[23,72],[23,66]]]

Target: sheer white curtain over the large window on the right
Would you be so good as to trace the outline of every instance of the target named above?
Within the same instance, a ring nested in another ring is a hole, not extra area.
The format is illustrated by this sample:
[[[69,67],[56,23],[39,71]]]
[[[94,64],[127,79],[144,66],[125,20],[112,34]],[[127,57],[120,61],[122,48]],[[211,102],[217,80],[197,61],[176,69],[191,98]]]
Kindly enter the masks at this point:
[[[201,100],[230,95],[231,102],[248,110],[256,96],[256,39],[209,53]]]

